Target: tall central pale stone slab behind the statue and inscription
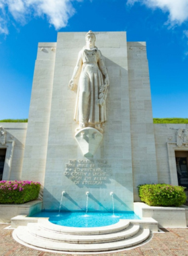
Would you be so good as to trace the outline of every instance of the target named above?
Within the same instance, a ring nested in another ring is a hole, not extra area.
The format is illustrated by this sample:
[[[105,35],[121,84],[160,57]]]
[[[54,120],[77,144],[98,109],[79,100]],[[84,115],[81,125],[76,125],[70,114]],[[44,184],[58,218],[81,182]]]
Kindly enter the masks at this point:
[[[75,139],[73,121],[77,92],[68,88],[86,32],[58,33],[43,207],[89,211],[133,210],[132,150],[126,32],[95,32],[109,73],[107,122],[93,158],[85,158]]]

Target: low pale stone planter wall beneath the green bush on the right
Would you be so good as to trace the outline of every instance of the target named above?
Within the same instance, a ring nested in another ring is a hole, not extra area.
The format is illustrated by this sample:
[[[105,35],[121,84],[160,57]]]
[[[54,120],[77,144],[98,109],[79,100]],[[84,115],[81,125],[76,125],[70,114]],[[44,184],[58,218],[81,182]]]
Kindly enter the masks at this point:
[[[140,218],[153,218],[158,227],[186,228],[188,225],[188,207],[156,207],[146,203],[134,203],[134,212]]]

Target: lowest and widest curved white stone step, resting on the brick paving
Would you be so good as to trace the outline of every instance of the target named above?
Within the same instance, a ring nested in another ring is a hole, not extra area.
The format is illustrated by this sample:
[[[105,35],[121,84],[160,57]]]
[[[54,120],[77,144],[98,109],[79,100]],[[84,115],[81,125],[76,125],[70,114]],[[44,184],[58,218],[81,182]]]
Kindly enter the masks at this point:
[[[72,251],[72,252],[93,252],[93,251],[113,251],[116,249],[124,249],[139,245],[145,241],[150,235],[149,229],[140,229],[137,234],[131,238],[123,241],[115,241],[110,243],[97,243],[97,244],[70,244],[58,243],[48,239],[33,236],[28,232],[26,226],[19,226],[13,231],[13,236],[17,236],[16,240],[25,245],[32,245],[34,247],[50,249],[55,251]]]

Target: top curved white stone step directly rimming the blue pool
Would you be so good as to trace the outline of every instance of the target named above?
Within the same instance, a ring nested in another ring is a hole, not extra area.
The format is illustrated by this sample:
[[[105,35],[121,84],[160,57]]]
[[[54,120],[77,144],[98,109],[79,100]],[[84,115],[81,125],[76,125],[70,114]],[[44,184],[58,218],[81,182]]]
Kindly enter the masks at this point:
[[[126,229],[130,224],[129,220],[120,220],[118,223],[109,226],[96,228],[73,228],[69,226],[60,226],[49,222],[48,220],[39,220],[38,225],[43,230],[58,232],[64,234],[109,234]]]

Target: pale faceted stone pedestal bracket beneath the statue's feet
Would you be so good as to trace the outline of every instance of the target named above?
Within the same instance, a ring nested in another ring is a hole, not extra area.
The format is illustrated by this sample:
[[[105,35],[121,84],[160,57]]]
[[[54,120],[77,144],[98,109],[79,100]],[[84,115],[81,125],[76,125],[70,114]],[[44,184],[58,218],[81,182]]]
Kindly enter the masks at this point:
[[[103,134],[95,128],[86,127],[75,134],[75,139],[77,139],[83,155],[93,157],[103,139]]]

